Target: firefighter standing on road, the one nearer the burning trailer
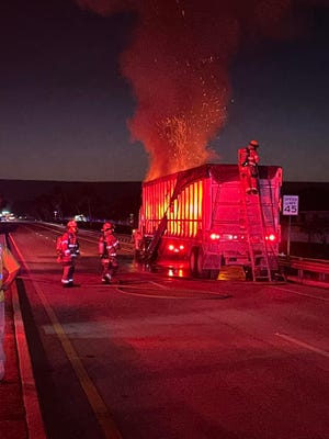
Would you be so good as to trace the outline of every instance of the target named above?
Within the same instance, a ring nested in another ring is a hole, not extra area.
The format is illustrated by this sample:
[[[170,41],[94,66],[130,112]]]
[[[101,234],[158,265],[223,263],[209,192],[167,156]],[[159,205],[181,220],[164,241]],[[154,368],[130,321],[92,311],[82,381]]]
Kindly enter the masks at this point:
[[[120,249],[120,241],[114,235],[114,227],[111,223],[104,223],[101,232],[99,255],[102,261],[102,282],[111,283],[118,269],[116,251]]]

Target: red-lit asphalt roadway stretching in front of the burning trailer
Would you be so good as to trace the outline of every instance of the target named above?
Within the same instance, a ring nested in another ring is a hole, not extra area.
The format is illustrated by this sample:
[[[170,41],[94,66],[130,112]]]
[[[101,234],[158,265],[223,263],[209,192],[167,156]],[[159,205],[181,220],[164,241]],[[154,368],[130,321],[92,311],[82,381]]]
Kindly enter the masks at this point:
[[[105,286],[83,233],[66,290],[52,226],[12,237],[48,438],[328,438],[328,290],[168,277],[128,251]]]

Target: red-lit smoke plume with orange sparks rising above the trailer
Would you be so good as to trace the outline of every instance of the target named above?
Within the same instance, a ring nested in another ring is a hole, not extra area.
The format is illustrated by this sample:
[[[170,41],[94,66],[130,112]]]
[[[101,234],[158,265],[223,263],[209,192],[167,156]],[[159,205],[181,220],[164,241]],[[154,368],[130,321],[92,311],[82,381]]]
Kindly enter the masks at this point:
[[[241,38],[294,37],[306,7],[327,0],[77,2],[104,15],[138,14],[121,67],[136,97],[132,138],[144,144],[154,179],[216,157],[207,144],[226,123],[229,65]]]

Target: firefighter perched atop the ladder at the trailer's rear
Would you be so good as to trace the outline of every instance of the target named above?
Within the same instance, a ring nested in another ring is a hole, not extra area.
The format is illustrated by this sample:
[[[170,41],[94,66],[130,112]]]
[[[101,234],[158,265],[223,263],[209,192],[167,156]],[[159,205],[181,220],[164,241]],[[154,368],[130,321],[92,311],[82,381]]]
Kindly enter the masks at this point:
[[[241,172],[247,178],[248,194],[258,193],[258,164],[259,155],[257,148],[259,144],[257,140],[251,140],[247,148],[239,149],[239,167],[242,168]]]

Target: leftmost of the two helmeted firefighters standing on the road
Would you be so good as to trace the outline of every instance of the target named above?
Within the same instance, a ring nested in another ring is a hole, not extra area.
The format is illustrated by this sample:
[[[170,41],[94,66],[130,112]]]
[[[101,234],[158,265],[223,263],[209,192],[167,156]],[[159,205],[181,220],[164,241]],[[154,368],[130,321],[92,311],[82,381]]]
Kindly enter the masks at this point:
[[[65,288],[73,286],[76,260],[80,255],[78,240],[78,225],[71,219],[67,223],[67,230],[61,236],[59,261],[63,264],[61,284]]]

